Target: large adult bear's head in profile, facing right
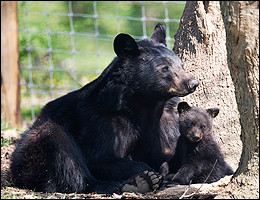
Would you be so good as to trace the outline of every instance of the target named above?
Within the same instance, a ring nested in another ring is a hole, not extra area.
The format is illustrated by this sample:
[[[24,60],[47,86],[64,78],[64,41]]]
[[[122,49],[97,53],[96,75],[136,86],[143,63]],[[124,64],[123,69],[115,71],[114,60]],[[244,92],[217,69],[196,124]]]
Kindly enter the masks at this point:
[[[183,69],[183,63],[166,47],[166,31],[157,24],[150,39],[136,42],[128,34],[118,34],[114,51],[127,72],[127,80],[141,96],[169,99],[195,91],[199,82]]]

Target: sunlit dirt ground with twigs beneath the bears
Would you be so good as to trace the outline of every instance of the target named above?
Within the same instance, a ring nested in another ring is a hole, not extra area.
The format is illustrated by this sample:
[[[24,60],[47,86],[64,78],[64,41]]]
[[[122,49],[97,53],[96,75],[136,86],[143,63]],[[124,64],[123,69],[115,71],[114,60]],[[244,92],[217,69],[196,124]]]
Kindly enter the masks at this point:
[[[1,137],[12,135],[15,131],[6,134],[1,131]],[[14,136],[12,135],[12,136]],[[62,193],[42,193],[34,192],[27,189],[18,189],[12,186],[10,179],[10,157],[15,149],[15,141],[1,147],[1,199],[34,199],[34,198],[52,198],[52,199],[236,199],[239,198],[232,194],[234,188],[239,186],[230,182],[231,177],[225,177],[220,181],[212,184],[191,184],[189,186],[168,186],[158,191],[140,194],[140,193],[123,193],[123,194],[62,194]]]

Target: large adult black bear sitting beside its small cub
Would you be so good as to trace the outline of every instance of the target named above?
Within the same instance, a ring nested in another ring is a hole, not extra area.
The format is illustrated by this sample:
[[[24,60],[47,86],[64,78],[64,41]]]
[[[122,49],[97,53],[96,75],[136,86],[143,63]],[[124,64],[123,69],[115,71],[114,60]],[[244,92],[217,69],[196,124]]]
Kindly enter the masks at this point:
[[[199,84],[165,37],[160,23],[139,42],[118,34],[117,57],[97,79],[47,103],[12,155],[15,186],[77,193],[158,188],[164,105]]]

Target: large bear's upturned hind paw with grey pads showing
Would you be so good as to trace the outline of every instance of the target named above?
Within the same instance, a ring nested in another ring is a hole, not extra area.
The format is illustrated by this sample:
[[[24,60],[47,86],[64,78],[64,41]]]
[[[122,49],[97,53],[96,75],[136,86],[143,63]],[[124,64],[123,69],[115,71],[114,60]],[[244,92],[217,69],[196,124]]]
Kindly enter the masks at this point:
[[[144,171],[137,174],[123,184],[122,192],[151,192],[159,188],[162,176],[153,171]]]

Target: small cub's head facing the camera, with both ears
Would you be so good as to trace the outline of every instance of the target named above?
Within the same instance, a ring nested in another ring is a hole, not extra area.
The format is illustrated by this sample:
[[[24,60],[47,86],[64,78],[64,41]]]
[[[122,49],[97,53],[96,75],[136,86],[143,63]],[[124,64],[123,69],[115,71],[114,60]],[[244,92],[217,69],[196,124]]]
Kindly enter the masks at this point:
[[[178,104],[179,129],[190,142],[199,142],[206,134],[211,134],[212,121],[218,108],[202,109],[190,107],[187,102]]]

